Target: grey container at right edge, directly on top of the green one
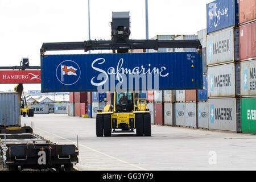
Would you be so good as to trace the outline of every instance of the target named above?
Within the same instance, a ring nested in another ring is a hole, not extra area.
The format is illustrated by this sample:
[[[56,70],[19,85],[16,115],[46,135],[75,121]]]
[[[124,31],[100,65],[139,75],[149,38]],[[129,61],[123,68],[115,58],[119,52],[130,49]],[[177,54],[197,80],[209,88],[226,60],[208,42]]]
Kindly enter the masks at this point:
[[[256,60],[243,61],[241,66],[241,96],[256,96]]]

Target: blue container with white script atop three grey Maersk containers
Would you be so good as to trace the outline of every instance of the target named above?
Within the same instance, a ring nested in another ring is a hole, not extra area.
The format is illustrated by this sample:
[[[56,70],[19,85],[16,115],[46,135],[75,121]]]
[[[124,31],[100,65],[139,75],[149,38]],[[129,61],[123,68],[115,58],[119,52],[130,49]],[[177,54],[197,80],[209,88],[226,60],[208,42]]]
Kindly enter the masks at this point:
[[[237,0],[216,0],[207,4],[207,34],[239,23]]]

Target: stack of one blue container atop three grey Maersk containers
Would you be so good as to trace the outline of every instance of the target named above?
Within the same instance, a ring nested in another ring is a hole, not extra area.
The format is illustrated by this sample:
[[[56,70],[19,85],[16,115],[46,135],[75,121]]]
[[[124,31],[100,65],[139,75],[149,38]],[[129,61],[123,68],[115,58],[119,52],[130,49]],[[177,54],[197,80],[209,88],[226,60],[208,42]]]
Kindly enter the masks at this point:
[[[238,1],[207,4],[209,129],[241,131]]]

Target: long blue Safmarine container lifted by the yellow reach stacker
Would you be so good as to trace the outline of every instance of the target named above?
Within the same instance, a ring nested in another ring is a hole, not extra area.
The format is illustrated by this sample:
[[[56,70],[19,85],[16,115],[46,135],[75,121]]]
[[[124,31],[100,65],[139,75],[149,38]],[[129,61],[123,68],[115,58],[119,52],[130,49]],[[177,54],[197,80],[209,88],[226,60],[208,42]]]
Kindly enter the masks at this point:
[[[202,69],[198,52],[43,55],[41,90],[106,92],[110,86],[135,90],[135,84],[141,90],[202,89]]]

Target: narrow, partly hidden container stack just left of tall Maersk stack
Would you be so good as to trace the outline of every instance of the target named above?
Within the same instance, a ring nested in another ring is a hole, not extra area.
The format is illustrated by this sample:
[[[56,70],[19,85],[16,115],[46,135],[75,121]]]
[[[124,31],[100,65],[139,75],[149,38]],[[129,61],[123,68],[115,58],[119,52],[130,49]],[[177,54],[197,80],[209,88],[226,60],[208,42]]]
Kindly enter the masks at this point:
[[[198,31],[198,39],[202,45],[203,56],[203,90],[197,90],[197,128],[209,128],[208,115],[208,98],[207,98],[207,29]]]

